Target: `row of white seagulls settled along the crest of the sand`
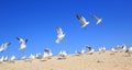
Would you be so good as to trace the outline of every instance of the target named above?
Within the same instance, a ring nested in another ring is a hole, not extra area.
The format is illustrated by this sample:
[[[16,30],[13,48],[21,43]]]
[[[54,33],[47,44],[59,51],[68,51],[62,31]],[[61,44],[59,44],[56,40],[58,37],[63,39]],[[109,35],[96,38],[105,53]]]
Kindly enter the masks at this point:
[[[87,50],[88,50],[88,52],[87,52]],[[99,51],[99,54],[105,52],[106,51],[106,47],[105,46],[100,47],[98,49],[98,51]],[[111,52],[112,54],[110,54],[110,55],[114,55],[116,52],[122,52],[122,51],[123,52],[128,52],[128,56],[131,57],[131,55],[132,55],[132,47],[127,49],[127,46],[124,44],[122,46],[112,47],[111,48]],[[92,55],[94,52],[95,52],[95,49],[91,46],[86,45],[85,48],[80,50],[80,52],[75,51],[74,55],[75,56],[80,56],[82,54]],[[67,55],[68,54],[67,54],[66,50],[61,50],[58,52],[58,56],[59,56],[58,59],[66,59]],[[44,54],[41,54],[41,52],[38,52],[36,55],[31,54],[29,57],[26,57],[26,56],[21,57],[20,60],[25,60],[25,61],[32,62],[33,59],[41,59],[42,61],[46,61],[48,59],[52,59],[52,57],[53,57],[52,50],[46,48],[46,49],[44,49]],[[14,62],[15,60],[16,60],[16,58],[15,58],[14,55],[11,56],[10,59],[8,59],[8,57],[6,57],[6,56],[2,56],[0,58],[0,63],[2,63],[3,61]]]

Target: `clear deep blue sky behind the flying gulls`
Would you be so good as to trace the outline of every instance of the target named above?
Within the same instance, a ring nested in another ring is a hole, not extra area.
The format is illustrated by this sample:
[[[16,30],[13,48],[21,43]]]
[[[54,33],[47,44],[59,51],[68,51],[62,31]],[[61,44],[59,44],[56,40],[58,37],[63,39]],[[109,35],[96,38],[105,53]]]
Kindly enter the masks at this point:
[[[65,49],[68,54],[81,50],[85,45],[107,49],[117,45],[132,46],[131,0],[0,0],[0,45],[12,44],[0,56],[29,56],[52,49],[56,55]],[[96,21],[89,13],[102,18]],[[84,15],[90,24],[81,28],[76,14]],[[56,44],[56,26],[66,33],[64,40]],[[19,51],[15,37],[29,39],[24,51]]]

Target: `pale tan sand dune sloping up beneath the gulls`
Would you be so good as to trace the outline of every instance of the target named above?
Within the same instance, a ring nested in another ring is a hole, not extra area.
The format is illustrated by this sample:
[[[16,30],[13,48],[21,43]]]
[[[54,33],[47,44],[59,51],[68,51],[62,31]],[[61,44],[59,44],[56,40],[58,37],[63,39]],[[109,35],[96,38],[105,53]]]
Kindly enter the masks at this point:
[[[15,60],[0,63],[0,70],[132,70],[132,56],[127,52],[111,51],[92,55],[67,56],[66,59],[53,57],[46,61],[34,59],[32,61]]]

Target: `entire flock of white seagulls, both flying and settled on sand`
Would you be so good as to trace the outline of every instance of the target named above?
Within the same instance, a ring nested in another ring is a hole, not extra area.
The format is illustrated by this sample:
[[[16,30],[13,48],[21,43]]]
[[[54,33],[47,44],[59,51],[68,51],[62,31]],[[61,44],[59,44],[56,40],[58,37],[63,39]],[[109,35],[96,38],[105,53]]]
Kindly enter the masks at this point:
[[[86,28],[87,25],[89,25],[90,22],[88,22],[82,15],[76,15],[77,20],[81,23],[81,27],[82,28]],[[96,24],[100,24],[102,22],[102,19],[91,14],[91,18],[96,21]],[[59,44],[64,37],[65,37],[65,33],[64,31],[57,26],[57,39],[55,40],[56,44]],[[26,48],[26,43],[28,43],[28,39],[23,39],[21,37],[16,37],[18,42],[20,43],[20,48],[19,50],[22,51]],[[11,45],[11,43],[6,43],[6,44],[2,44],[1,47],[0,47],[0,52],[3,52],[8,46]],[[88,49],[88,54],[89,55],[92,55],[95,52],[95,49],[88,45],[85,46],[85,49],[82,49],[80,52],[78,52],[77,50],[75,51],[75,55],[79,56],[81,54],[86,54],[86,49]],[[117,51],[125,51],[129,54],[129,56],[131,56],[132,54],[132,47],[130,47],[129,49],[127,49],[127,46],[125,45],[122,45],[122,46],[118,46],[118,47],[113,47],[111,48],[111,51],[114,54]],[[99,48],[99,54],[101,52],[105,52],[106,51],[106,47],[100,47]],[[59,54],[58,54],[59,58],[58,59],[65,59],[66,56],[67,56],[67,51],[66,50],[61,50]],[[26,56],[23,56],[21,57],[21,60],[32,60],[32,59],[51,59],[53,57],[53,52],[51,49],[46,48],[44,49],[44,54],[42,55],[41,52],[36,54],[36,55],[33,55],[31,54],[29,57]],[[2,56],[0,58],[0,63],[3,62],[3,61],[11,61],[11,62],[14,62],[15,60],[15,56],[11,56],[11,58],[9,59],[7,56]]]

